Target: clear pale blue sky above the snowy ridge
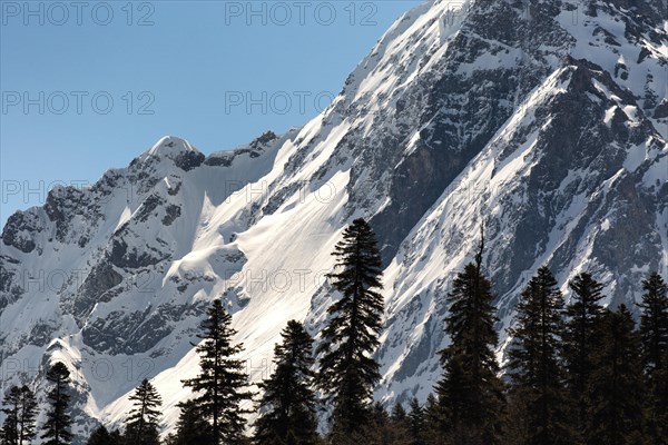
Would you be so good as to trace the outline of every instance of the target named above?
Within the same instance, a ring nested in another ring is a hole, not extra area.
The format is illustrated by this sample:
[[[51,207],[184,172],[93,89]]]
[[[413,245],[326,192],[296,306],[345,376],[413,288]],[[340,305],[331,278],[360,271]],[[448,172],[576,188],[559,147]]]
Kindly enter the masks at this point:
[[[304,125],[418,3],[1,0],[0,224],[165,135],[210,154]]]

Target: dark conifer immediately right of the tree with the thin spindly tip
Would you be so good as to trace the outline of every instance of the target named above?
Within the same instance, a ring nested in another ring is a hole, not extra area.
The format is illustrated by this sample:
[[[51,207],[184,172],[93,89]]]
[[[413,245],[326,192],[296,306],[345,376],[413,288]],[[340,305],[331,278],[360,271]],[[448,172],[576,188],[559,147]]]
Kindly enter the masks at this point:
[[[559,349],[563,298],[547,267],[538,269],[517,306],[508,353],[511,396],[523,412],[528,445],[572,444],[566,418]]]

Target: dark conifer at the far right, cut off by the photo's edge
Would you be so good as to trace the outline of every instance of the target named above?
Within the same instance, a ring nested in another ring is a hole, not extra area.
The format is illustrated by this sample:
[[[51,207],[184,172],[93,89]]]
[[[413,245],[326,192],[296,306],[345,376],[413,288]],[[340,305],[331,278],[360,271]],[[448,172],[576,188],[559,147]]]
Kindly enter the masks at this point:
[[[642,281],[640,340],[647,399],[647,435],[652,444],[668,443],[668,286],[657,273]]]

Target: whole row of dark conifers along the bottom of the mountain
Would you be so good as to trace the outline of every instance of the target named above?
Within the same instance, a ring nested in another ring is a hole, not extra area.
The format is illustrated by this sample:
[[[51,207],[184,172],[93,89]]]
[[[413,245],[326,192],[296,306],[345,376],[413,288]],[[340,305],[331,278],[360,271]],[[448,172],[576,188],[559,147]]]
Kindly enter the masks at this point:
[[[340,298],[327,309],[317,342],[302,323],[289,320],[258,397],[237,358],[244,346],[233,340],[232,316],[216,299],[194,345],[199,373],[181,380],[193,398],[179,404],[175,432],[160,441],[161,399],[145,379],[129,397],[124,431],[99,426],[88,444],[667,444],[668,286],[661,276],[651,273],[642,281],[637,325],[625,305],[602,305],[603,285],[588,273],[569,283],[566,305],[552,273],[541,267],[519,296],[500,363],[483,249],[481,231],[474,260],[445,296],[450,344],[439,352],[443,373],[424,404],[412,398],[387,412],[374,403],[381,379],[374,354],[384,312],[382,263],[373,230],[356,219],[333,253],[336,267],[328,278]],[[51,390],[40,438],[47,445],[70,444],[69,372],[57,363],[47,379]],[[250,402],[255,409],[247,407]],[[31,389],[10,388],[3,406],[0,442],[31,443],[38,412]],[[258,415],[248,436],[252,412]]]

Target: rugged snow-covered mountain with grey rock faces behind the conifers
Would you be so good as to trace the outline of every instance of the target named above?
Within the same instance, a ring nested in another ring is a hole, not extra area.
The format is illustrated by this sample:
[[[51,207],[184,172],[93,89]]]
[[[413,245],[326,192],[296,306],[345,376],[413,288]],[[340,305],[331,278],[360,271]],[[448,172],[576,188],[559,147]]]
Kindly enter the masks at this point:
[[[541,265],[564,291],[589,270],[608,303],[638,299],[647,271],[668,275],[666,17],[662,0],[425,2],[303,128],[208,157],[165,137],[53,189],[2,231],[4,388],[65,362],[82,438],[149,377],[174,425],[209,301],[266,377],[288,319],[322,326],[330,253],[360,216],[386,263],[381,400],[432,389],[443,297],[483,219],[500,329]]]

